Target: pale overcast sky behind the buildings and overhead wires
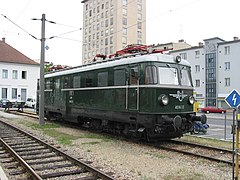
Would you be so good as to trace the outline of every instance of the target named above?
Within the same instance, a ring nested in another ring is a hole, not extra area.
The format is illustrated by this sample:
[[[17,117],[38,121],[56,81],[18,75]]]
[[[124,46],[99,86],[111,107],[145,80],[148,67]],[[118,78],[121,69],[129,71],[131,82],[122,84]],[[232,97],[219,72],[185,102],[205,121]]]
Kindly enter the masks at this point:
[[[133,0],[128,0],[129,2]],[[147,44],[178,42],[197,45],[203,39],[219,37],[230,41],[240,37],[240,0],[146,0]],[[81,64],[81,0],[0,0],[0,38],[31,59],[40,59],[41,21],[46,19],[46,61],[76,66]],[[130,5],[130,4],[129,4]],[[57,37],[56,37],[57,36]]]

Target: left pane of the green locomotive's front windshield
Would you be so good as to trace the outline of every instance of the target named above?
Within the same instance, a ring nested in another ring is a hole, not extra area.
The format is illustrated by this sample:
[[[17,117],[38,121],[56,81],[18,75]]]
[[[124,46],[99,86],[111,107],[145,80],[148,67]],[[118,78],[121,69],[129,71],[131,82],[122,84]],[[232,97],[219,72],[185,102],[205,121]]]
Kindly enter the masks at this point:
[[[179,85],[177,68],[159,67],[160,84]]]

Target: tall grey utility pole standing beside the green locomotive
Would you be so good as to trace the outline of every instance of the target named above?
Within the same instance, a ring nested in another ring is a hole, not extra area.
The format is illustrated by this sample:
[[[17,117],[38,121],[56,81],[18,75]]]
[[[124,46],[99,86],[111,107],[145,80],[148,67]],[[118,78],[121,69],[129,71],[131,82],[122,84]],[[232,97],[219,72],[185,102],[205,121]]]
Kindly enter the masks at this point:
[[[39,92],[39,124],[44,125],[44,64],[45,64],[45,14],[42,14],[41,60],[40,60],[40,92]]]

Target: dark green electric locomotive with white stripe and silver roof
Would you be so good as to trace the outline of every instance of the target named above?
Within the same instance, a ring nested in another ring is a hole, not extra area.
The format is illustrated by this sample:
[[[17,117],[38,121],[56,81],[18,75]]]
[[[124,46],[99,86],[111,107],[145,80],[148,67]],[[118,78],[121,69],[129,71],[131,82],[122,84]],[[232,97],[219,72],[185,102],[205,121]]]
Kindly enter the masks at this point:
[[[193,111],[190,64],[161,53],[94,62],[45,75],[45,116],[137,138],[171,139],[206,116]]]

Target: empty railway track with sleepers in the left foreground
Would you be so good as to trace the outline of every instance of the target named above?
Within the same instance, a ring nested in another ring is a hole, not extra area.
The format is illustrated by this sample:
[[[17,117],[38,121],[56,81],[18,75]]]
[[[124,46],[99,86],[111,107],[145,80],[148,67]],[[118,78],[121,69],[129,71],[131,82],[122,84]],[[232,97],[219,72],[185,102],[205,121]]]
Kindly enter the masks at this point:
[[[1,120],[0,162],[11,179],[113,179]]]

